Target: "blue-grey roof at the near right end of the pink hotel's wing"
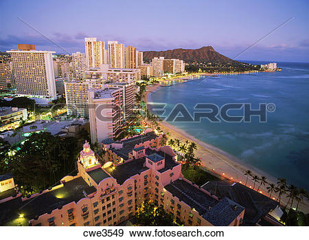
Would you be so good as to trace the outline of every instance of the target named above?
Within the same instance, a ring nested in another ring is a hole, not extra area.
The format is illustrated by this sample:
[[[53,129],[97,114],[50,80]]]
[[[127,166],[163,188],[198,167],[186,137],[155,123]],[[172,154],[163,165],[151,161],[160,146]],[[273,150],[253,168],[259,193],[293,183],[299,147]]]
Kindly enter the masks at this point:
[[[243,206],[225,197],[202,217],[214,226],[229,226],[243,210]]]

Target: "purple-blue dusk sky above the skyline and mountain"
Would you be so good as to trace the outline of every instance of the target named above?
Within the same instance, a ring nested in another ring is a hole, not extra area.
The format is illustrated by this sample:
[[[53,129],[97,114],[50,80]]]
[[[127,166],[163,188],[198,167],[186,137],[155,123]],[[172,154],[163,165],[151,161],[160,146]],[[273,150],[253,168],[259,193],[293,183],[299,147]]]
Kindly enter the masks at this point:
[[[140,51],[211,45],[236,60],[309,62],[308,7],[297,0],[0,0],[0,51],[27,43],[84,52],[84,38],[96,37]]]

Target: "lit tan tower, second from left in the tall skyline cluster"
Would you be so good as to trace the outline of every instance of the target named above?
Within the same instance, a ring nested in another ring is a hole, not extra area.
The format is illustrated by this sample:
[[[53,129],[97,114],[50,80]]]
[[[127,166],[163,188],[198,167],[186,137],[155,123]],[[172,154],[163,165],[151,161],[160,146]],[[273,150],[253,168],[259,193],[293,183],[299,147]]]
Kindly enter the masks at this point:
[[[108,63],[111,68],[125,68],[124,44],[108,41]]]

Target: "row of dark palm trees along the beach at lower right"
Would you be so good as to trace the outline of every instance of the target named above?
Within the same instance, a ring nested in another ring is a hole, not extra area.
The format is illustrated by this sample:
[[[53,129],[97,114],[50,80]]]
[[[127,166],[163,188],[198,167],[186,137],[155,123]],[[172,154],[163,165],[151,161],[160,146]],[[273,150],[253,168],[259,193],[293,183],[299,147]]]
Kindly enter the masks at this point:
[[[266,177],[264,176],[259,177],[258,175],[253,175],[252,171],[250,170],[244,171],[244,175],[247,176],[246,183],[244,184],[245,186],[247,186],[249,177],[252,177],[251,180],[253,181],[253,190],[255,189],[255,184],[260,184],[258,186],[257,191],[260,190],[262,185],[266,186],[267,184],[268,186],[266,187],[266,189],[267,189],[267,192],[269,193],[269,198],[271,198],[273,193],[278,193],[278,197],[276,201],[279,201],[279,206],[282,201],[282,196],[286,195],[286,197],[288,197],[288,202],[286,206],[284,207],[284,209],[286,209],[289,206],[289,204],[290,204],[290,209],[293,208],[293,204],[296,201],[297,205],[295,209],[297,212],[299,204],[302,201],[304,201],[305,198],[307,199],[309,198],[309,195],[304,188],[297,188],[293,184],[288,185],[286,183],[286,179],[284,178],[278,178],[277,184],[273,184],[273,183],[268,183],[266,181]]]

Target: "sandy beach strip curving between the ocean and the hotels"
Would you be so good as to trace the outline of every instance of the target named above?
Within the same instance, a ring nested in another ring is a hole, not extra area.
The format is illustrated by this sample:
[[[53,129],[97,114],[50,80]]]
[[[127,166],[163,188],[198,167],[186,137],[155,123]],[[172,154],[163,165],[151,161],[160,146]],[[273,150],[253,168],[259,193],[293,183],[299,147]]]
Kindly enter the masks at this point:
[[[147,101],[151,102],[151,96],[149,96],[149,94],[156,91],[159,87],[159,84],[147,87],[145,94],[145,98]],[[253,175],[267,177],[268,183],[277,183],[276,177],[268,175],[260,169],[255,168],[254,166],[251,166],[245,162],[242,162],[237,157],[226,153],[225,151],[222,151],[215,146],[212,146],[210,144],[207,144],[206,142],[194,138],[192,135],[172,126],[168,122],[160,122],[159,124],[163,132],[170,133],[169,139],[179,139],[181,140],[181,142],[185,142],[185,140],[195,142],[197,144],[196,156],[201,157],[203,166],[209,171],[213,171],[217,175],[221,175],[222,177],[226,177],[227,179],[231,179],[232,181],[245,184],[247,176],[244,175],[244,171],[250,170],[252,171]],[[251,186],[253,188],[253,185],[254,183],[251,180],[251,177],[249,177],[247,186]],[[260,184],[255,184],[255,190],[258,189],[258,186],[260,186]],[[261,186],[259,192],[269,196],[266,186]],[[273,197],[277,199],[277,194],[273,193],[272,198]],[[288,199],[282,196],[282,205],[285,206],[287,202]],[[296,203],[294,204],[294,206],[296,206]],[[302,210],[305,213],[309,212],[309,202],[306,199],[304,199],[303,203],[299,204],[299,210]]]

